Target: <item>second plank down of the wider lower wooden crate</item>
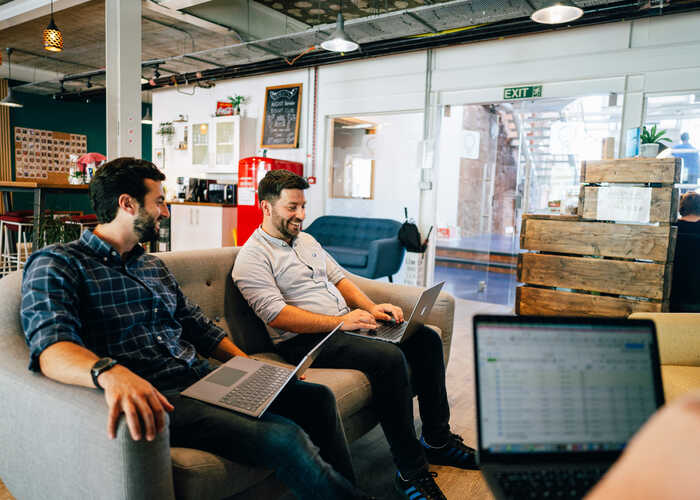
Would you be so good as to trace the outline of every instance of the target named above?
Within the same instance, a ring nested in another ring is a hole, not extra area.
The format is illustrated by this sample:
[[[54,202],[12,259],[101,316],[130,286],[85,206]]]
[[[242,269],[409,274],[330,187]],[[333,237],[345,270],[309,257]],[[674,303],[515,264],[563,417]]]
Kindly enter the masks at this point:
[[[532,285],[667,299],[665,264],[528,253],[518,261],[518,281]],[[666,294],[666,295],[665,295]]]

